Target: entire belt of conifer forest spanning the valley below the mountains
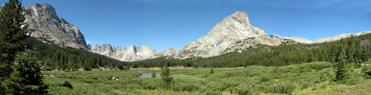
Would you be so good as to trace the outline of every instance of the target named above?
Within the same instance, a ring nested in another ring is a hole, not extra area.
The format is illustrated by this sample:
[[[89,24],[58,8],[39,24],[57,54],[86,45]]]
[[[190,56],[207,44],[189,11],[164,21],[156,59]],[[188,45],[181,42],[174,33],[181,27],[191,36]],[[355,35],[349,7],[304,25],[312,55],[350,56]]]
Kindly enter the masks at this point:
[[[356,37],[342,38],[338,41],[315,43],[315,44],[288,44],[269,46],[265,44],[255,44],[254,47],[242,50],[242,52],[229,52],[215,57],[191,57],[184,60],[175,58],[160,57],[136,62],[124,62],[115,60],[104,55],[76,49],[72,47],[59,47],[46,44],[42,41],[46,39],[28,38],[24,45],[27,48],[36,47],[40,52],[39,58],[43,62],[43,69],[51,71],[58,70],[77,70],[83,68],[86,71],[92,68],[113,67],[124,69],[126,65],[131,68],[162,67],[168,64],[170,67],[246,67],[250,65],[264,66],[286,66],[292,64],[302,64],[311,61],[336,62],[336,54],[344,48],[347,59],[350,63],[360,63],[368,60],[371,54],[370,40],[371,34]],[[242,42],[243,43],[243,42]]]

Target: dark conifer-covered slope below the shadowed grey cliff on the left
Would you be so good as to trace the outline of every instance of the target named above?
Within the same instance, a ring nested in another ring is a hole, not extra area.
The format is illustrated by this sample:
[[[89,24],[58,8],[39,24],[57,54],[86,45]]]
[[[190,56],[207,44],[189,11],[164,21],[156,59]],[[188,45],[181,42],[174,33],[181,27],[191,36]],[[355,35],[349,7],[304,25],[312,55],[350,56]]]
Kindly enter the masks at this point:
[[[51,44],[46,44],[42,41],[47,41]],[[111,67],[124,69],[124,61],[115,60],[101,54],[96,54],[82,49],[72,47],[59,47],[52,41],[40,39],[36,37],[27,38],[24,45],[29,49],[37,48],[39,59],[43,61],[41,64],[46,71],[54,69],[64,71],[75,71],[83,68],[85,71],[90,71],[92,68]],[[126,68],[125,68],[126,69]]]

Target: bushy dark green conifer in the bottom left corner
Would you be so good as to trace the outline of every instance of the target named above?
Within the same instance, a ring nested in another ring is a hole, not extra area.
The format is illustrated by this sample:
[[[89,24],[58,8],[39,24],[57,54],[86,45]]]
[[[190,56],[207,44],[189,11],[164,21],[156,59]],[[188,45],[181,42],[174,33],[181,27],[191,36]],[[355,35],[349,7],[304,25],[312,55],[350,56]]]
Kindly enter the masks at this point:
[[[1,84],[5,93],[14,95],[46,95],[48,86],[43,83],[40,61],[34,56],[36,51],[25,50],[17,56],[14,72]]]

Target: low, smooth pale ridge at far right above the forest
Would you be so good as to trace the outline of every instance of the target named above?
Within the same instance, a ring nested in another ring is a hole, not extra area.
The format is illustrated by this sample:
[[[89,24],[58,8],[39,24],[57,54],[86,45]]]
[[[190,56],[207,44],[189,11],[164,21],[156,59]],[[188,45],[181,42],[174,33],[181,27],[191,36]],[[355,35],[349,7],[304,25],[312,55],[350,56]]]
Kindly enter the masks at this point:
[[[371,33],[371,31],[362,31],[362,32],[359,32],[359,33],[335,35],[334,37],[322,38],[322,39],[319,39],[317,41],[313,41],[312,43],[331,42],[331,41],[340,40],[341,38],[348,38],[348,37],[351,37],[352,35],[353,36],[358,36],[358,35],[364,35],[364,34],[368,34],[368,33]]]

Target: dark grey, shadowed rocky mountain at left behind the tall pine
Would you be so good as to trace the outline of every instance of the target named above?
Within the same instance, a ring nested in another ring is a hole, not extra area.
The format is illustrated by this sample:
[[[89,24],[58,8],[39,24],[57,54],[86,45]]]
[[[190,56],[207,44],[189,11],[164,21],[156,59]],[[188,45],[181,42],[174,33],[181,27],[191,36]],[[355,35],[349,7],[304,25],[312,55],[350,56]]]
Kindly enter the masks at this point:
[[[31,36],[46,38],[56,44],[89,50],[80,30],[63,18],[59,18],[55,9],[49,4],[34,4],[25,6],[24,9],[26,21],[30,25],[28,29],[32,31]]]

